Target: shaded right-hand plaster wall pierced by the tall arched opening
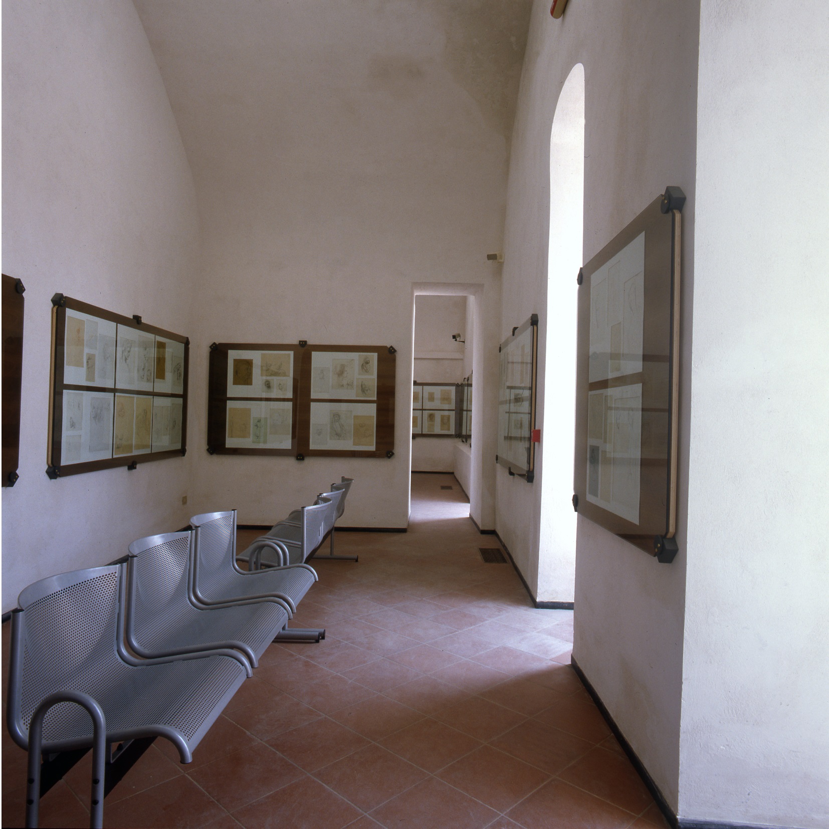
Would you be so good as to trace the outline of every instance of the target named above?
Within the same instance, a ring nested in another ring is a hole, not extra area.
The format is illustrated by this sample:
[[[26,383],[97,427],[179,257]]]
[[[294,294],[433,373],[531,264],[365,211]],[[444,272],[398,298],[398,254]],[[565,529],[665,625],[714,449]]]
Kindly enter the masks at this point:
[[[696,56],[699,4],[659,0],[571,3],[550,17],[537,0],[521,76],[507,191],[501,337],[541,315],[539,417],[544,419],[550,128],[570,70],[584,65],[584,261],[622,230],[668,184],[688,196],[681,354],[681,553],[659,565],[642,551],[579,518],[574,657],[633,748],[676,806],[684,613],[688,391],[693,285]],[[574,279],[575,274],[572,274]],[[555,400],[555,398],[551,398]],[[474,445],[474,441],[473,441]],[[497,530],[532,589],[538,549],[540,478],[526,484],[497,468]]]

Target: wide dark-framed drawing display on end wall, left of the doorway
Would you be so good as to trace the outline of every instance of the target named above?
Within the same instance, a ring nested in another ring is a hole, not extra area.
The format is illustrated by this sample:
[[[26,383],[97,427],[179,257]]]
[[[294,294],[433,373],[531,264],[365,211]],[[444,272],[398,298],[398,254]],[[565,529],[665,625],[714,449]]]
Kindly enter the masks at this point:
[[[391,457],[395,365],[385,346],[213,343],[207,451]]]

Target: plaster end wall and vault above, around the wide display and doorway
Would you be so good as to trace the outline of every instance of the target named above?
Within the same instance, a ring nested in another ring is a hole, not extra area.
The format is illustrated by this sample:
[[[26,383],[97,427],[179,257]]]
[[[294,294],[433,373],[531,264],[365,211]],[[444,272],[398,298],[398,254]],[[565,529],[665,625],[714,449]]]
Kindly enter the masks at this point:
[[[345,474],[356,479],[347,523],[405,526],[413,286],[478,284],[497,308],[486,254],[502,242],[528,4],[485,14],[444,0],[136,7],[204,228],[194,511],[235,506],[241,522],[267,523]],[[485,318],[495,340],[497,312]],[[395,458],[204,451],[210,342],[300,338],[397,348]],[[491,512],[494,487],[480,488]]]

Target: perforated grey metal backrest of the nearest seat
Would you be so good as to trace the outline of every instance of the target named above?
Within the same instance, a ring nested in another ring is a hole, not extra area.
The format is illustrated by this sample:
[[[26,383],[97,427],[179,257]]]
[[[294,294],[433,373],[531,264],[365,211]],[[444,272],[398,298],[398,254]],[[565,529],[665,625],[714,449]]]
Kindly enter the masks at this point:
[[[8,724],[25,747],[32,715],[56,691],[83,691],[99,698],[107,678],[121,667],[118,641],[119,565],[75,570],[30,584],[12,613]],[[61,703],[44,721],[44,741],[83,739],[90,716],[80,705]]]

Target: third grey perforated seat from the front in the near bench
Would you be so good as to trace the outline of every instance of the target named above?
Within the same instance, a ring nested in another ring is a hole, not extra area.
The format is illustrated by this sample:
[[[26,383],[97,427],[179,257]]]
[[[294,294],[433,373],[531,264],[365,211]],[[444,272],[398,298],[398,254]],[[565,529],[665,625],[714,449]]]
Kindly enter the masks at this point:
[[[206,512],[193,516],[195,530],[190,568],[190,596],[201,607],[227,606],[279,597],[292,613],[317,580],[313,567],[304,563],[241,570],[236,564],[236,511]],[[269,540],[288,559],[288,548]],[[324,629],[284,628],[275,637],[288,642],[318,642]]]

